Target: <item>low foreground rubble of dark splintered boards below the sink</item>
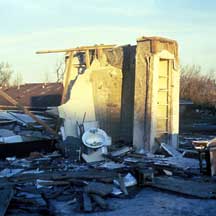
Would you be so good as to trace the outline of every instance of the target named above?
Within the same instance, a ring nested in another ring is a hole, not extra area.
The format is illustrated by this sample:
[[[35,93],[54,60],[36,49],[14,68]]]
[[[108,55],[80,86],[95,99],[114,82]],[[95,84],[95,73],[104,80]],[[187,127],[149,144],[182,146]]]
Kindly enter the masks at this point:
[[[113,197],[131,198],[143,187],[216,198],[216,179],[200,175],[198,160],[165,144],[161,148],[172,156],[136,153],[126,146],[91,163],[75,163],[57,151],[7,157],[0,163],[0,215],[110,211]]]

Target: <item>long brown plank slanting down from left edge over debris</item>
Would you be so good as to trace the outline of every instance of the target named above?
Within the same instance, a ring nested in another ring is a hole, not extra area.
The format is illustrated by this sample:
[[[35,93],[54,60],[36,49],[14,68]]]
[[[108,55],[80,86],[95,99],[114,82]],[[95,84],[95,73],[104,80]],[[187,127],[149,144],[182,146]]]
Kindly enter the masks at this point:
[[[40,120],[33,113],[31,113],[27,108],[25,108],[22,104],[20,104],[18,101],[16,101],[15,99],[13,99],[11,96],[9,96],[7,93],[5,93],[4,91],[2,91],[1,89],[0,89],[0,96],[2,96],[4,99],[6,99],[7,101],[9,101],[11,104],[13,104],[14,106],[16,106],[20,110],[22,110],[25,114],[29,115],[38,124],[42,125],[45,130],[47,130],[48,132],[50,132],[51,134],[53,134],[55,136],[58,136],[58,134],[55,132],[55,130],[53,130],[52,128],[50,128],[45,122],[43,122],[42,120]]]

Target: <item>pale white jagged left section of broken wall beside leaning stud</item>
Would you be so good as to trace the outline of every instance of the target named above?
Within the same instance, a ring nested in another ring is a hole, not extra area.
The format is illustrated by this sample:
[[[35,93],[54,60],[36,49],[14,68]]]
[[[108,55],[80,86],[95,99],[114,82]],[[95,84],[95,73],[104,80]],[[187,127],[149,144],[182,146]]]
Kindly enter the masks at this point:
[[[77,123],[81,124],[83,120],[95,121],[95,106],[90,81],[92,71],[86,69],[84,73],[80,73],[78,64],[79,61],[73,54],[66,59],[67,73],[64,77],[64,88],[67,89],[66,103],[58,107],[59,115],[64,119],[66,137],[78,137]]]

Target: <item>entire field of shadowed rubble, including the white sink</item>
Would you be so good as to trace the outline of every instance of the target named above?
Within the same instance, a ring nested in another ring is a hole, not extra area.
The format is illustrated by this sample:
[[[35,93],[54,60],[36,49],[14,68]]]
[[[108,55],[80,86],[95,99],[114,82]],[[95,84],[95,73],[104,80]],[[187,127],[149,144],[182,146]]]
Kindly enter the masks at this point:
[[[180,149],[159,143],[153,154],[113,143],[97,122],[83,121],[79,136],[65,137],[59,118],[33,115],[0,113],[0,216],[113,211],[113,198],[132,198],[145,187],[216,198],[216,179],[206,176],[214,166],[202,158],[208,141],[186,139]]]

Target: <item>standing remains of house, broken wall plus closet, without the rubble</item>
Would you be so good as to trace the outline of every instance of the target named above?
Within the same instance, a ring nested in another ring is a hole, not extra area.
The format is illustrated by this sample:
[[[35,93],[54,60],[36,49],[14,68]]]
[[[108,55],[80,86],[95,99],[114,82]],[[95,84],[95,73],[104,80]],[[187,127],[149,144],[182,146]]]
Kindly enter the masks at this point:
[[[66,136],[77,122],[99,122],[112,140],[155,152],[178,146],[179,61],[176,41],[142,37],[137,45],[96,45],[65,52],[60,116]]]

